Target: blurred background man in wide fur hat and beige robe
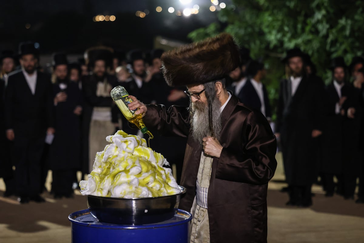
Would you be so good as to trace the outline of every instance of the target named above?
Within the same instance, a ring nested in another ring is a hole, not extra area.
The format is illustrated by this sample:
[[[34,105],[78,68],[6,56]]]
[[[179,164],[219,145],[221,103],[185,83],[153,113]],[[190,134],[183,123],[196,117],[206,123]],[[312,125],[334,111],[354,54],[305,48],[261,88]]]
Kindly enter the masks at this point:
[[[82,80],[85,113],[82,120],[83,171],[86,171],[85,163],[88,161],[88,172],[91,172],[96,153],[105,148],[108,144],[105,138],[114,134],[118,126],[117,115],[112,114],[112,110],[117,112],[118,109],[110,96],[118,81],[115,76],[108,74],[112,66],[111,48],[90,48],[86,54],[91,74]]]

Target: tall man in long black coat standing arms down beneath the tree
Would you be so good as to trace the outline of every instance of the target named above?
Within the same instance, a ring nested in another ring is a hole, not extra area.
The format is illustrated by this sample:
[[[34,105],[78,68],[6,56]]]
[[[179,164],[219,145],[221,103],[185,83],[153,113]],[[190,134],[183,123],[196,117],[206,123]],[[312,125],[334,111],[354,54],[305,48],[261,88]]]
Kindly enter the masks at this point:
[[[305,74],[303,53],[294,48],[283,61],[289,70],[280,84],[277,109],[277,136],[281,137],[287,205],[312,205],[311,186],[317,179],[316,138],[321,135],[320,87]]]

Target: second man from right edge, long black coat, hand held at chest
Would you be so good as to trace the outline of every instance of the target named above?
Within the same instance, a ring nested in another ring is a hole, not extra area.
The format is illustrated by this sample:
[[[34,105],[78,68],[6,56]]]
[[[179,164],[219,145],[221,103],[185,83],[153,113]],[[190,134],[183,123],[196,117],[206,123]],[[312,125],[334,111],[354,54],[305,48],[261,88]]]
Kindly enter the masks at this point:
[[[345,82],[347,66],[343,57],[332,60],[333,81],[325,89],[325,126],[323,128],[323,160],[320,172],[325,185],[325,196],[333,196],[333,176],[339,180],[338,192],[342,191],[344,163],[344,121],[349,87]]]

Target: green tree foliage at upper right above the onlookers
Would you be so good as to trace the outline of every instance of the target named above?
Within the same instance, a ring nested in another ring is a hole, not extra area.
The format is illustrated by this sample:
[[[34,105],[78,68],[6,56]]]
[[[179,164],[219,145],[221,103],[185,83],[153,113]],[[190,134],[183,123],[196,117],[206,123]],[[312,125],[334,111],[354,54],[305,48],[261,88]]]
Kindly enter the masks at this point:
[[[280,59],[286,50],[299,47],[308,53],[325,81],[331,79],[332,58],[344,56],[349,64],[364,52],[363,0],[232,1],[235,6],[218,12],[218,22],[191,32],[189,38],[197,41],[219,32],[234,35],[250,49],[252,58],[266,64],[272,101],[284,75]]]

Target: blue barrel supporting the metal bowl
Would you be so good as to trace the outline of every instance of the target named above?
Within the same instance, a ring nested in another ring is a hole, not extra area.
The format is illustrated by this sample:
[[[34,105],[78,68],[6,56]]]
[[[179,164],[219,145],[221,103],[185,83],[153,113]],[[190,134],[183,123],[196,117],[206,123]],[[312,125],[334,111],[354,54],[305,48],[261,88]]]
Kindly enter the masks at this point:
[[[190,241],[189,212],[178,209],[173,218],[138,226],[102,223],[88,209],[71,213],[73,243],[187,243]]]

